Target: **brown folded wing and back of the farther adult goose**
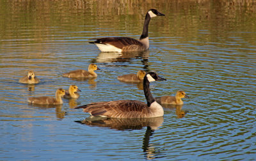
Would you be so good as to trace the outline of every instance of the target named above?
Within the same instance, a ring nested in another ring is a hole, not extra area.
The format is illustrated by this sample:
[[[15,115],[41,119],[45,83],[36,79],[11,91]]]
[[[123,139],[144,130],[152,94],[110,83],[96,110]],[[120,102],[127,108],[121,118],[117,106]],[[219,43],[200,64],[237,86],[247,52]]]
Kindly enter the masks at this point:
[[[143,44],[133,38],[128,38],[128,37],[113,37],[113,38],[100,38],[94,41],[93,43],[101,43],[101,44],[109,44],[113,45],[116,48],[124,48],[125,46],[143,46]]]

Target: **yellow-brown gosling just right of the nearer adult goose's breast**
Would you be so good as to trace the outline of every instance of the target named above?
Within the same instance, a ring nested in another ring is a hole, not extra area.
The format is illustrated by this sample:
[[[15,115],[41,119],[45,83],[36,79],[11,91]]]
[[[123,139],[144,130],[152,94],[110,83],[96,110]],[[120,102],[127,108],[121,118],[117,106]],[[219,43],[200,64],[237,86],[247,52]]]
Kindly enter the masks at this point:
[[[159,104],[183,104],[181,99],[184,97],[189,98],[183,90],[178,90],[175,96],[164,95],[155,99]]]

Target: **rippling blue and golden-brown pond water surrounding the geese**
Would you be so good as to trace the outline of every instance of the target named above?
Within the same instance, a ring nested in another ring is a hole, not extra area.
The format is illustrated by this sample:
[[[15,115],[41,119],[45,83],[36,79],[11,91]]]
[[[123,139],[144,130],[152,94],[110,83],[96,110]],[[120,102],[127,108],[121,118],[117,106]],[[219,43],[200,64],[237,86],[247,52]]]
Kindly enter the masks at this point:
[[[145,13],[150,49],[101,53],[92,38],[140,38]],[[255,160],[255,1],[1,1],[0,160]],[[61,74],[101,69],[92,80]],[[41,80],[24,85],[29,70]],[[183,106],[164,106],[150,119],[88,120],[74,107],[136,99],[140,84],[116,79],[138,70],[167,81],[154,96],[184,90]],[[28,104],[75,84],[79,99],[63,105]]]

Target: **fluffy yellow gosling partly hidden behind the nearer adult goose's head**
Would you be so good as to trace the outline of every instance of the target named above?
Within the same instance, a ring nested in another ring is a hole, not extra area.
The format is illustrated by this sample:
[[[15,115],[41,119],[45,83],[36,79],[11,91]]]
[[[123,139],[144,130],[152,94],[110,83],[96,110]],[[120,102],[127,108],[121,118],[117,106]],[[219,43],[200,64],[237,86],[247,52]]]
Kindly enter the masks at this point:
[[[122,76],[117,76],[117,79],[125,82],[140,82],[140,81],[143,81],[145,74],[146,74],[145,71],[140,70],[138,71],[137,74],[125,74]]]

